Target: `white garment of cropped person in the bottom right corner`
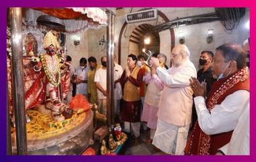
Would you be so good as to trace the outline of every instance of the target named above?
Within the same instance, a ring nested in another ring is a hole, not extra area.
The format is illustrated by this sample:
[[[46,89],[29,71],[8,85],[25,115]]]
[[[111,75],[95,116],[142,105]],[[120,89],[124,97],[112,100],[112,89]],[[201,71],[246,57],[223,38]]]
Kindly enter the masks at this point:
[[[225,155],[250,155],[250,102],[248,100],[236,128],[232,133],[230,143],[220,149]]]

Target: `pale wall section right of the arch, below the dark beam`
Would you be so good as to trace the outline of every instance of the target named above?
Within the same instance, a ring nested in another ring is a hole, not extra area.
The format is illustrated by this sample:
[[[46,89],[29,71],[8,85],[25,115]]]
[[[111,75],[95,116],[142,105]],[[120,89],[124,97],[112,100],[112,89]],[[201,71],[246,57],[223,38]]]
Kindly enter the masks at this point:
[[[215,49],[224,43],[234,42],[243,44],[243,41],[249,37],[249,30],[245,28],[245,22],[249,19],[249,13],[241,19],[241,22],[232,31],[225,30],[221,22],[210,22],[203,24],[195,24],[191,26],[183,26],[180,28],[174,28],[175,44],[179,43],[179,33],[183,32],[185,37],[185,44],[191,51],[191,61],[195,67],[199,69],[199,56],[203,50],[211,50],[215,52]],[[207,44],[207,30],[214,29],[213,41]]]

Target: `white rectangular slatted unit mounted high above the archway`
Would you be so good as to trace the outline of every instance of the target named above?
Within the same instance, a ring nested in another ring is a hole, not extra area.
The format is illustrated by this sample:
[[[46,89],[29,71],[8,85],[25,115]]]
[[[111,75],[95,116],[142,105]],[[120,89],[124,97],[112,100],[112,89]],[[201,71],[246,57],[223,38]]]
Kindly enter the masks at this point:
[[[143,22],[156,19],[158,16],[157,9],[147,9],[125,15],[127,23]]]

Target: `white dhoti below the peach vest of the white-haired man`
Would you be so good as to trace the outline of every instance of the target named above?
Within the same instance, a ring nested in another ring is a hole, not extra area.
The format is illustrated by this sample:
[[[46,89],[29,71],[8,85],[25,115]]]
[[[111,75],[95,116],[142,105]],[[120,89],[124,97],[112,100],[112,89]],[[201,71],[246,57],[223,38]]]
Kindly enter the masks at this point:
[[[188,133],[189,125],[175,126],[158,118],[152,144],[164,153],[184,155]]]

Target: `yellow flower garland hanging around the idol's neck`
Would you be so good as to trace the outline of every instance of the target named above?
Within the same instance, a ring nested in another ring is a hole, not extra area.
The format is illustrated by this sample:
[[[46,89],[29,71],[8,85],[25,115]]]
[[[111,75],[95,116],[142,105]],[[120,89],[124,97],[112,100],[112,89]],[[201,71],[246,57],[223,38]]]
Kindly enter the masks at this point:
[[[57,54],[55,54],[55,58],[57,60],[59,60]],[[53,80],[53,77],[50,76],[49,69],[46,67],[46,63],[45,63],[45,60],[44,60],[44,54],[40,54],[40,60],[42,62],[42,67],[44,69],[44,73],[45,73],[47,79],[50,81],[50,83],[52,85],[55,85],[55,87],[57,87],[61,83],[61,65],[60,65],[60,63],[58,64],[58,81],[56,82],[56,81]]]

